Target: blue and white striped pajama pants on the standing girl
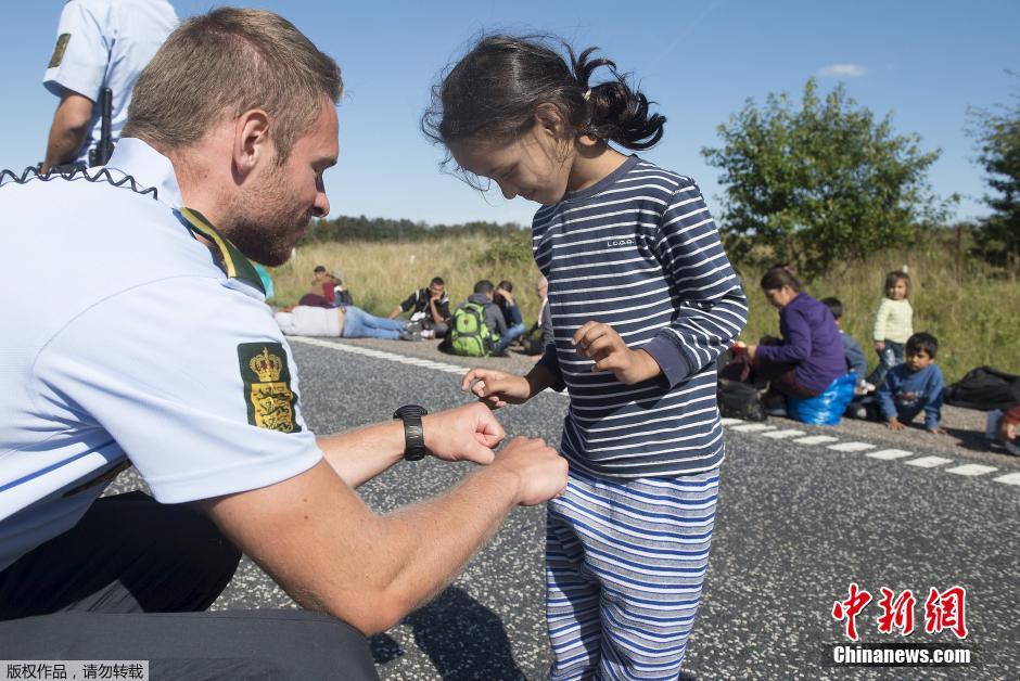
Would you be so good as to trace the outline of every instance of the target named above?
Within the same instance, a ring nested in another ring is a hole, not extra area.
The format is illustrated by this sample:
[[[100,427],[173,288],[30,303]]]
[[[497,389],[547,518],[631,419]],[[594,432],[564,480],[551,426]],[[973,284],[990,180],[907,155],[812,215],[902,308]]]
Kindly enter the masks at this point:
[[[607,479],[548,502],[549,678],[676,679],[709,564],[719,470]]]

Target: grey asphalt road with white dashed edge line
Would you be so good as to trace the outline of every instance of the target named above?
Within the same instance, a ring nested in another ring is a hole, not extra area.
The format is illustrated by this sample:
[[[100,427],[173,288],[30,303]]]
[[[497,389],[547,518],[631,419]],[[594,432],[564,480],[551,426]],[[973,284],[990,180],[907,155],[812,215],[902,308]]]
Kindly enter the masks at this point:
[[[468,399],[459,390],[456,364],[470,362],[434,355],[424,344],[294,339],[292,347],[305,416],[318,433],[387,419],[400,403],[442,409]],[[528,363],[486,361],[518,371]],[[510,434],[557,442],[565,408],[564,397],[544,394],[501,410],[500,417]],[[980,414],[956,412],[947,422],[952,437],[917,429],[890,434],[878,424],[854,422],[826,428],[774,420],[763,432],[728,425],[718,522],[686,673],[697,679],[1020,678],[1015,605],[1020,484],[998,479],[1020,478],[1020,460],[985,450],[976,433]],[[803,434],[778,433],[794,428]],[[834,440],[796,441],[816,435]],[[986,468],[961,468],[965,464]],[[373,509],[386,512],[441,493],[468,471],[470,464],[401,463],[361,492]],[[375,637],[380,674],[544,678],[549,651],[543,523],[540,507],[515,510],[446,592]],[[862,643],[965,647],[972,664],[832,666],[833,646],[850,643],[832,606],[847,599],[851,582],[875,595],[857,618]],[[967,590],[965,640],[949,631],[923,632],[929,590],[953,586]],[[913,634],[879,633],[881,587],[896,593],[910,589],[917,598]],[[293,606],[246,560],[216,604]]]

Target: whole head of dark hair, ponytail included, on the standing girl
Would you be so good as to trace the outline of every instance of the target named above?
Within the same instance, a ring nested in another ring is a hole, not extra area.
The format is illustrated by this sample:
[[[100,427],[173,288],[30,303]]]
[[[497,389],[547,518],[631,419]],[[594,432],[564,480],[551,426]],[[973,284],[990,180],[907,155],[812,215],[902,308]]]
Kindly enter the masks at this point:
[[[569,60],[551,46],[562,46]],[[526,132],[535,115],[554,106],[574,134],[590,134],[620,146],[643,150],[662,139],[665,116],[649,115],[648,99],[633,89],[616,65],[579,56],[547,36],[488,36],[447,69],[433,88],[422,130],[447,146],[466,140],[513,139]],[[605,66],[612,79],[590,85]]]

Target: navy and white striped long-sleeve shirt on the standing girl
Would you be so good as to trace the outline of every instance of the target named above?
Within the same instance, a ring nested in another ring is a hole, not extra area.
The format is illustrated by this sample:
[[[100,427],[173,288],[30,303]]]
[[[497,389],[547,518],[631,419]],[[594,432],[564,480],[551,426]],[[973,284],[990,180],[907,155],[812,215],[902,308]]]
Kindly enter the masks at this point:
[[[532,235],[556,338],[541,361],[571,397],[563,453],[608,476],[717,466],[715,360],[743,329],[748,303],[693,180],[630,156],[597,184],[539,209]],[[625,385],[592,372],[571,345],[587,321],[610,324],[662,374]]]

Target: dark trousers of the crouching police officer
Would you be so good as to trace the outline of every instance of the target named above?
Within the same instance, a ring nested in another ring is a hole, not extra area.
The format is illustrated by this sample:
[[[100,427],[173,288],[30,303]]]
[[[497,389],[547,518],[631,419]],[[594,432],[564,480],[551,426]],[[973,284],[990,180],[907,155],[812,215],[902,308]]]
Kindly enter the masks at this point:
[[[241,554],[204,515],[98,500],[0,573],[0,659],[146,659],[153,679],[377,679],[365,637],[305,611],[205,611]]]

